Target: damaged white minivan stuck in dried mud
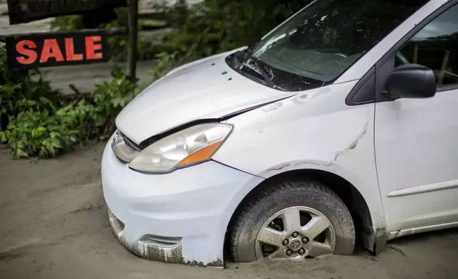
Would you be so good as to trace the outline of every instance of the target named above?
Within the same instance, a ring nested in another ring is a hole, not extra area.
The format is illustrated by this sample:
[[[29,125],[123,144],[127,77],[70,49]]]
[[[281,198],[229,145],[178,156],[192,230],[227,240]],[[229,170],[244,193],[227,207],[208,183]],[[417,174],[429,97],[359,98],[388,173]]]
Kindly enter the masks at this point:
[[[380,253],[458,226],[458,1],[313,1],[156,80],[116,125],[110,223],[150,260]]]

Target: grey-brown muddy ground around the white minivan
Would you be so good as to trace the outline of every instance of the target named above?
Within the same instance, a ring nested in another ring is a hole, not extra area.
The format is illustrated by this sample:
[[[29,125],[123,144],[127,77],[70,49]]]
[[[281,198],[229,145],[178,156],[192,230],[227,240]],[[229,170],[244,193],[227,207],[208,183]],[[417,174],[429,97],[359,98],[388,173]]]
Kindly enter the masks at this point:
[[[377,257],[228,263],[225,270],[154,263],[110,231],[100,184],[103,144],[50,160],[0,147],[0,278],[458,278],[458,230],[400,238]]]

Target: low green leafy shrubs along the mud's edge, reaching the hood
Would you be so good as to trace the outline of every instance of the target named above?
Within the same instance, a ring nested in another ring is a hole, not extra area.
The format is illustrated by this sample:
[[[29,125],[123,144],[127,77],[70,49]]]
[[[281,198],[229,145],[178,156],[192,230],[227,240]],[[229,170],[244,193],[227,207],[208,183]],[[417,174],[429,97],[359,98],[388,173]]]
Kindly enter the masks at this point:
[[[97,85],[91,102],[79,100],[57,110],[37,110],[32,105],[16,116],[0,132],[14,157],[55,157],[76,144],[99,137],[107,139],[115,130],[115,118],[144,88],[137,80],[112,70],[113,80]]]

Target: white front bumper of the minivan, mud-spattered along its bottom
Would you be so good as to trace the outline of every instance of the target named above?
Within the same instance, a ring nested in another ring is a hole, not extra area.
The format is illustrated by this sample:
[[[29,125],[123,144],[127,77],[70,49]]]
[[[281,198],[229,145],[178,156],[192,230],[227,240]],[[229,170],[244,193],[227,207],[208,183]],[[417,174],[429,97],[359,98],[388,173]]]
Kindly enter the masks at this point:
[[[171,174],[142,174],[119,162],[110,143],[102,158],[102,186],[122,246],[149,260],[223,267],[230,218],[262,178],[212,161]],[[145,236],[175,243],[144,241]]]

